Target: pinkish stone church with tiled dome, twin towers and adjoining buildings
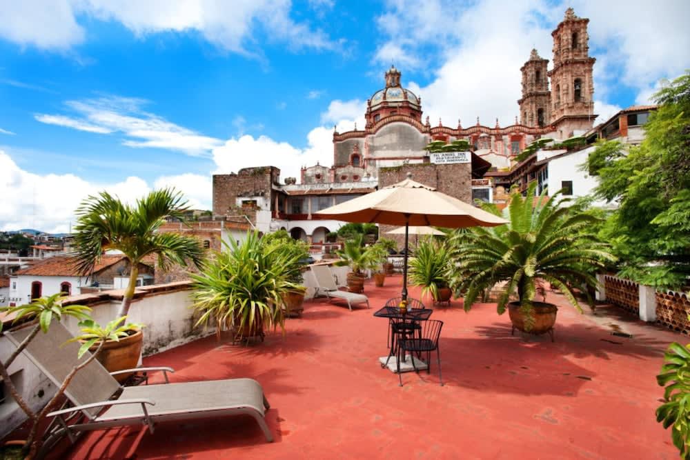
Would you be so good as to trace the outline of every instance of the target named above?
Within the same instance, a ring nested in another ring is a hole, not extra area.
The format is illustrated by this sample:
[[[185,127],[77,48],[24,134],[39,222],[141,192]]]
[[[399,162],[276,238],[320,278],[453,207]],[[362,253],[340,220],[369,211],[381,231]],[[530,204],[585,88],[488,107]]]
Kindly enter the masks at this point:
[[[520,120],[516,117],[514,124],[499,126],[496,121],[495,126],[485,126],[477,119],[467,126],[460,120],[457,126],[444,126],[441,120],[431,126],[424,117],[422,96],[404,88],[402,73],[391,67],[384,75],[384,88],[367,100],[364,129],[334,130],[333,166],[302,168],[299,183],[290,177],[281,183],[280,171],[273,166],[215,175],[213,214],[245,216],[262,232],[285,229],[295,238],[324,244],[328,232],[342,223],[312,219],[313,212],[400,181],[407,172],[468,203],[500,200],[515,183],[526,186],[538,176],[534,155],[531,161],[516,161],[530,143],[579,137],[593,128],[595,59],[589,56],[588,23],[572,8],[566,10],[551,32],[551,70],[549,60],[532,50],[520,69]],[[468,141],[469,152],[439,161],[425,150],[431,141],[456,140]],[[324,158],[324,163],[330,162]]]

